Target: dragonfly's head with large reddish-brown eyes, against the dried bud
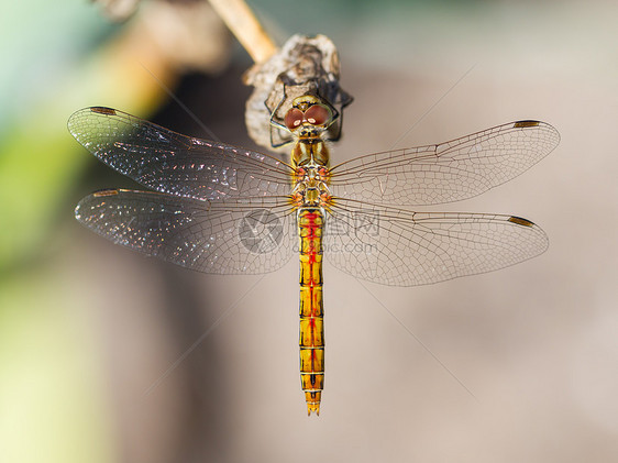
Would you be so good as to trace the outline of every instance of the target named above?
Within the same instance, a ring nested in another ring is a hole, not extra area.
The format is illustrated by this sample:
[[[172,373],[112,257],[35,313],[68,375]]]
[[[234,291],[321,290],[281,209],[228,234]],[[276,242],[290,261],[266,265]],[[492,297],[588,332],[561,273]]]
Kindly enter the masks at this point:
[[[317,137],[333,122],[333,111],[318,97],[304,95],[295,98],[285,115],[286,128],[301,139]]]

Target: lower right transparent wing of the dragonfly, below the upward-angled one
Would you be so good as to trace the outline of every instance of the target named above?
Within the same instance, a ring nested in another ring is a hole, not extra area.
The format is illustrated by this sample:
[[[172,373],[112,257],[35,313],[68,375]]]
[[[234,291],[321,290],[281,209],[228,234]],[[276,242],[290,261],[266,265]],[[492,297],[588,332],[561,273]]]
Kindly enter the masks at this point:
[[[368,282],[415,286],[492,272],[547,250],[545,233],[515,216],[413,212],[339,200],[324,256]]]

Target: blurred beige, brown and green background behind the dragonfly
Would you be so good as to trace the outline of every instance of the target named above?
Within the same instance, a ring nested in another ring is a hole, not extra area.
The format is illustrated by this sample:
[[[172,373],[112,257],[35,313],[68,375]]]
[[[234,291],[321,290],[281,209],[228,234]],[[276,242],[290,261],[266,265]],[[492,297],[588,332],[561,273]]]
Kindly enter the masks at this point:
[[[306,416],[299,384],[297,261],[264,277],[202,275],[73,219],[82,196],[135,187],[73,141],[73,110],[112,106],[207,136],[165,85],[219,139],[255,146],[246,53],[200,25],[170,53],[195,43],[199,62],[214,40],[198,31],[216,30],[210,62],[153,57],[175,34],[153,3],[119,25],[87,2],[8,7],[0,461],[618,458],[616,2],[251,1],[279,44],[322,33],[338,45],[355,101],[335,159],[388,150],[410,128],[397,146],[518,119],[562,135],[521,177],[431,208],[526,217],[550,236],[540,257],[416,288],[325,265],[319,418]]]

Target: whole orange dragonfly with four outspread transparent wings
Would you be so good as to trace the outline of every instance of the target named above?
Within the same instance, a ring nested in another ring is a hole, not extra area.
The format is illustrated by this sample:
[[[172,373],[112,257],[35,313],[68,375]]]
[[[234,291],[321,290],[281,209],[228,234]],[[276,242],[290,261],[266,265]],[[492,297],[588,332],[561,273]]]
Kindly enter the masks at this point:
[[[68,129],[99,161],[148,190],[104,189],[75,209],[117,244],[208,274],[263,274],[300,261],[300,379],[319,415],[324,384],[325,258],[367,282],[415,286],[507,267],[548,247],[528,219],[421,211],[501,185],[538,163],[558,131],[520,120],[444,143],[367,154],[331,166],[339,114],[317,95],[294,99],[278,129],[288,162],[186,136],[104,107]]]

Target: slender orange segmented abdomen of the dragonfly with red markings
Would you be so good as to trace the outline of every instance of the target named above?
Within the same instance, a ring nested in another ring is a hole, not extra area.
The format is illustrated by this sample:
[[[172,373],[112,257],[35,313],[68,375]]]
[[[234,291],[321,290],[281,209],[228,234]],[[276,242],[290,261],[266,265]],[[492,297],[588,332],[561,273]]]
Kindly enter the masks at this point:
[[[324,387],[324,328],[322,305],[322,230],[320,208],[298,210],[300,236],[300,383],[307,414],[320,415]]]

